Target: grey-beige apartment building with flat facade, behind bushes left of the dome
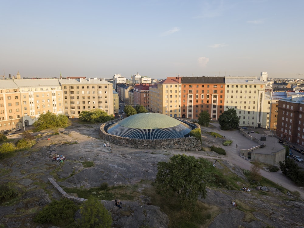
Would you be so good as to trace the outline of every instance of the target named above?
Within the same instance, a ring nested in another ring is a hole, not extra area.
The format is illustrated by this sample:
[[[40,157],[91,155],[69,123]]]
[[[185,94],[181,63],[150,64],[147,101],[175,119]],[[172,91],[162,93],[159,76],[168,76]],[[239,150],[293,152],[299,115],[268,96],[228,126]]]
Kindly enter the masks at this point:
[[[63,114],[78,118],[81,111],[101,109],[114,114],[113,84],[105,79],[59,79]]]

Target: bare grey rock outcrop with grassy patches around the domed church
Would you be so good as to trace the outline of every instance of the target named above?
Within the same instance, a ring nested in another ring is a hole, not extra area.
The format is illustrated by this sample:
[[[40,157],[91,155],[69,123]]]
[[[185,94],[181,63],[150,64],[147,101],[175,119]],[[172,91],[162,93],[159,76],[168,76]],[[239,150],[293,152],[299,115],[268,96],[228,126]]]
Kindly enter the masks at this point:
[[[33,216],[25,211],[39,210],[51,199],[62,197],[48,182],[49,177],[62,187],[91,188],[98,187],[103,182],[110,186],[138,184],[142,180],[154,181],[157,163],[168,161],[170,156],[178,153],[204,157],[212,162],[217,159],[217,168],[227,167],[244,180],[246,177],[240,167],[250,167],[250,163],[234,153],[232,147],[224,148],[227,156],[220,156],[212,151],[144,150],[116,145],[104,147],[104,140],[99,138],[98,124],[73,123],[68,128],[59,129],[59,134],[52,133],[54,132],[50,130],[39,132],[40,137],[32,152],[21,152],[18,156],[0,163],[0,182],[16,182],[24,192],[21,201],[16,205],[4,203],[0,206],[0,224],[5,227],[36,227],[32,221]],[[202,135],[205,140],[203,146],[221,146],[223,140],[204,133]],[[241,146],[242,142],[237,143]],[[66,156],[67,159],[63,163],[52,162],[53,154]],[[94,166],[85,168],[84,164],[88,161],[93,162]],[[240,167],[236,166],[234,161],[240,164]],[[46,187],[41,188],[42,185]],[[289,187],[286,182],[282,182],[282,185]],[[138,191],[144,187],[140,186]],[[264,192],[266,195],[256,189],[244,192],[207,188],[207,197],[199,200],[217,210],[212,221],[204,227],[304,227],[304,218],[299,214],[304,203],[295,201],[292,194],[285,195],[275,188],[265,187],[269,190]],[[237,202],[237,207],[231,205],[232,200]],[[165,228],[169,225],[168,217],[158,207],[151,205],[151,200],[144,195],[136,202],[123,202],[122,209],[114,207],[113,201],[102,203],[112,214],[112,227],[133,228],[145,225]]]

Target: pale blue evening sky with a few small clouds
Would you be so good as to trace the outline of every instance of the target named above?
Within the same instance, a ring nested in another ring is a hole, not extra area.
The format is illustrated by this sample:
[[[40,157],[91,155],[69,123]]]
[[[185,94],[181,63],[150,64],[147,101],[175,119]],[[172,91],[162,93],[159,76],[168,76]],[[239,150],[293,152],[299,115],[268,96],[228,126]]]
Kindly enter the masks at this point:
[[[301,0],[4,0],[0,75],[304,78]]]

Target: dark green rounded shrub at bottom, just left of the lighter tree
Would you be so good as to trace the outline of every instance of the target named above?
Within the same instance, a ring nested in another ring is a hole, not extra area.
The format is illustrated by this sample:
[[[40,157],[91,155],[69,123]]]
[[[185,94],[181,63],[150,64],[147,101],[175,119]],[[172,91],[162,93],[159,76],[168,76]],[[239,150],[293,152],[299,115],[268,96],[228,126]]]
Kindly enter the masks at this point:
[[[78,206],[66,198],[54,200],[46,205],[34,218],[34,222],[43,224],[51,223],[55,226],[66,226],[74,223],[74,215]]]

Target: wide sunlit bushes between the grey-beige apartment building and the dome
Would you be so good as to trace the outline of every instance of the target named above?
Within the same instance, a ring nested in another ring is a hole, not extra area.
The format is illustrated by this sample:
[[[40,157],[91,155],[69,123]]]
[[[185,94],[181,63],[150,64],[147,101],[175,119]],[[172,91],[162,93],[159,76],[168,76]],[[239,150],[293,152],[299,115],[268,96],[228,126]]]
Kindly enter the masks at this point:
[[[114,116],[108,115],[105,111],[101,109],[96,109],[94,111],[82,111],[79,114],[79,119],[81,121],[91,122],[91,123],[104,123],[114,119]]]

